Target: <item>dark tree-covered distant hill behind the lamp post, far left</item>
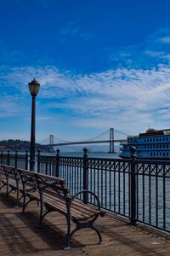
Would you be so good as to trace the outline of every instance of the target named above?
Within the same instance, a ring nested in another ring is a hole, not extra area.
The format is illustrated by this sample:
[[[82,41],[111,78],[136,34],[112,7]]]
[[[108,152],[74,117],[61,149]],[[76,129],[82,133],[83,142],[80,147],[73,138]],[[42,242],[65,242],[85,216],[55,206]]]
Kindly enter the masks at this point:
[[[0,150],[15,151],[16,149],[19,151],[26,151],[26,149],[29,150],[30,142],[22,141],[22,140],[12,140],[12,139],[0,141]],[[36,150],[37,149],[41,149],[41,151],[48,152],[47,146],[43,146],[38,143],[36,143]]]

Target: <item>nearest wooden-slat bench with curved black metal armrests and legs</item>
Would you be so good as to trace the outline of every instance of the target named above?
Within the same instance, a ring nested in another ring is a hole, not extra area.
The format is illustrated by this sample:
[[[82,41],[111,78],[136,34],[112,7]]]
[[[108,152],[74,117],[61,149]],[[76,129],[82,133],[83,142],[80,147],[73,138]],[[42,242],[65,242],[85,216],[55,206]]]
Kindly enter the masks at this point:
[[[77,230],[93,229],[99,236],[99,244],[102,244],[102,237],[94,227],[94,221],[103,217],[105,212],[101,211],[99,199],[93,192],[83,190],[72,196],[69,189],[65,187],[65,180],[59,177],[51,177],[35,172],[18,169],[23,184],[20,190],[23,196],[22,212],[26,211],[26,206],[31,201],[37,201],[40,206],[39,225],[49,212],[59,212],[64,215],[67,221],[66,242],[64,249],[70,248],[71,237]],[[29,188],[29,189],[28,189]],[[30,189],[31,188],[31,189]],[[80,198],[84,194],[94,197],[97,207],[88,203],[83,203]],[[77,199],[79,198],[79,199]],[[71,230],[71,222],[76,224],[76,228]]]

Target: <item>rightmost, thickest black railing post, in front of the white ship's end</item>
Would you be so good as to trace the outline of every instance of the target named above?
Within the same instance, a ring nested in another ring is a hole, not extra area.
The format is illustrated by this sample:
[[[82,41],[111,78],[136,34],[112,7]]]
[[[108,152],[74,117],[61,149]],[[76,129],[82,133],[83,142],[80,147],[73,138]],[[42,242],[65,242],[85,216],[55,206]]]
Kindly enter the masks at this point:
[[[136,174],[135,174],[135,160],[136,148],[131,147],[131,170],[130,170],[130,224],[136,224]]]

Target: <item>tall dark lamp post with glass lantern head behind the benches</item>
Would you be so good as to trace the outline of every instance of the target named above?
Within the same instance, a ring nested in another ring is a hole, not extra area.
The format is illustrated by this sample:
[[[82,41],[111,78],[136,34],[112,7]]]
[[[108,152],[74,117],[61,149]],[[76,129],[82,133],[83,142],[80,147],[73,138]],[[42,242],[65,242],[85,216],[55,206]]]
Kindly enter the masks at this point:
[[[30,170],[35,171],[36,96],[38,94],[40,84],[37,83],[36,79],[33,79],[31,83],[28,83],[28,86],[32,96]]]

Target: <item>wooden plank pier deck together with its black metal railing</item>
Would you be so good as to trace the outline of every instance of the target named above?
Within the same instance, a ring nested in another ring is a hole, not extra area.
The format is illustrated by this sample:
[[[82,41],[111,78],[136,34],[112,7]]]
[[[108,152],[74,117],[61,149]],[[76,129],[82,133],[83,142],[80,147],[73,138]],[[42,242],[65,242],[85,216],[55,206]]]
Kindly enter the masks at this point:
[[[30,204],[22,214],[20,207],[14,207],[16,195],[7,199],[1,190],[2,255],[170,254],[170,161],[136,160],[135,148],[129,160],[90,158],[86,148],[82,157],[60,156],[59,150],[55,156],[45,156],[38,151],[36,160],[35,172],[64,178],[71,195],[88,189],[99,197],[106,216],[96,224],[105,243],[97,245],[93,230],[83,230],[73,236],[71,250],[62,251],[65,218],[50,213],[39,229],[38,207]],[[0,163],[29,170],[30,156],[27,151],[2,151]],[[90,196],[86,201],[93,203]]]

